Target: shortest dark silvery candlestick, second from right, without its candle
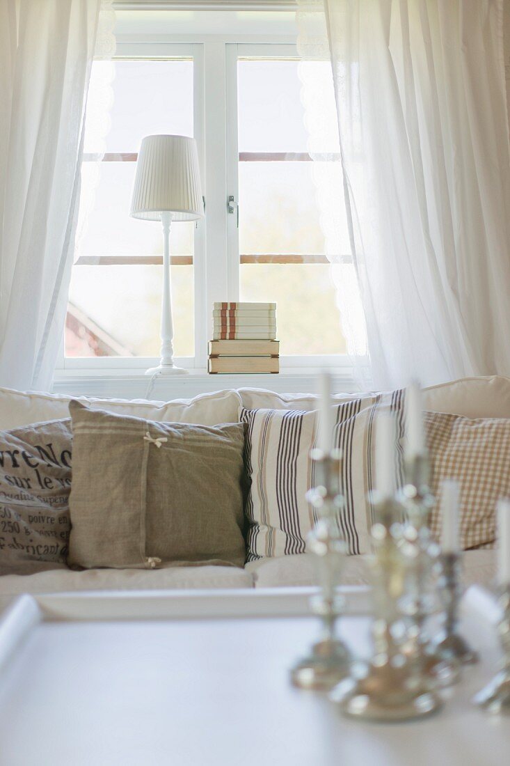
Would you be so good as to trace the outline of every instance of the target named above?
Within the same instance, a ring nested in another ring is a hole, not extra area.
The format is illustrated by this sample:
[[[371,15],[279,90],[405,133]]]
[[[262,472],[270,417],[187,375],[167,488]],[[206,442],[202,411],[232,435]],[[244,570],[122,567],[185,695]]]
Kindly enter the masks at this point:
[[[459,601],[463,595],[460,553],[440,555],[440,597],[444,605],[443,632],[434,641],[435,651],[444,660],[452,658],[461,665],[472,665],[479,660],[478,654],[459,633]]]

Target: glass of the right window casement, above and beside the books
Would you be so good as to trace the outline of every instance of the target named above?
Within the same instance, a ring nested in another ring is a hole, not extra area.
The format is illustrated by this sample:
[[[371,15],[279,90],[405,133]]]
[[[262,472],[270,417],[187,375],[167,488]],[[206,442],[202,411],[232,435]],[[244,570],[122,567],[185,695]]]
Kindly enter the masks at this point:
[[[282,355],[345,354],[332,267],[306,264],[307,256],[326,252],[319,190],[326,180],[338,188],[340,209],[342,178],[338,162],[308,158],[298,67],[278,59],[238,62],[240,254],[305,261],[240,265],[240,300],[276,301]],[[342,228],[336,218],[335,228]]]

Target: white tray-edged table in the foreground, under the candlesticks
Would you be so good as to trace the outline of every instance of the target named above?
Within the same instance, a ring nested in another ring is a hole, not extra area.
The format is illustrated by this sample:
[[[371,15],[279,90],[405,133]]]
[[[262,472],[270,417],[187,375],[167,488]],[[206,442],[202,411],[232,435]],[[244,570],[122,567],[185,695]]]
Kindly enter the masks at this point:
[[[344,719],[289,685],[315,638],[299,591],[21,597],[0,622],[2,766],[496,766],[510,719],[469,702],[498,651],[469,611],[483,663],[444,712],[410,724]],[[368,650],[364,591],[342,633]]]

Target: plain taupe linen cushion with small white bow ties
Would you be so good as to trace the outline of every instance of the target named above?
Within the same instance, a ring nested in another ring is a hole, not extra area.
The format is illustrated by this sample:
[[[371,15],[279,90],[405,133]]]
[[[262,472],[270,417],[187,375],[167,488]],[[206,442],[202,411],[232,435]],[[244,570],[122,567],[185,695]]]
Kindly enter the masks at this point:
[[[70,404],[68,564],[243,566],[240,423],[156,423]]]

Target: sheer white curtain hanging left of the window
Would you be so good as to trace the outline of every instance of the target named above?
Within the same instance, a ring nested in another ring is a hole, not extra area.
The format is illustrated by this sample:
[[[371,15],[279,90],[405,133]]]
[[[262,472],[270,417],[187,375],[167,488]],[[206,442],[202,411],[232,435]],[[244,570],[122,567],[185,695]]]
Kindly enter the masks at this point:
[[[0,0],[0,385],[48,390],[73,260],[83,121],[110,3]]]

